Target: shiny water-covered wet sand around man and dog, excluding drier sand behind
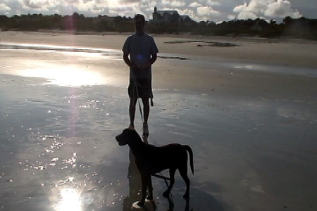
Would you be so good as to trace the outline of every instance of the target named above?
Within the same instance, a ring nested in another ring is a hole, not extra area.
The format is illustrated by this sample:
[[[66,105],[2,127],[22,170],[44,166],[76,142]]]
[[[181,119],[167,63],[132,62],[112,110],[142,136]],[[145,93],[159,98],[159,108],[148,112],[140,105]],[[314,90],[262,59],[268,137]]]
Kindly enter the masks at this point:
[[[2,53],[0,210],[140,210],[138,172],[114,139],[129,122],[127,80],[112,74],[118,56],[101,63],[92,51]],[[191,146],[195,174],[188,203],[179,174],[173,204],[161,196],[165,182],[152,179],[148,210],[317,207],[316,98],[154,95],[149,142]]]

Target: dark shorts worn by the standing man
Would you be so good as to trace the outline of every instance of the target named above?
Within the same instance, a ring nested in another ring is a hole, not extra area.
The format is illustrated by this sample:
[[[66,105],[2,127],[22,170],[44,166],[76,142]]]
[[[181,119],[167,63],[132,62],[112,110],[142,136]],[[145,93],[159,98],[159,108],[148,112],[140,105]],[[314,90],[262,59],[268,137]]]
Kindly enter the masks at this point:
[[[130,79],[128,94],[130,98],[153,98],[151,81],[148,79],[137,79],[135,83],[132,79]]]

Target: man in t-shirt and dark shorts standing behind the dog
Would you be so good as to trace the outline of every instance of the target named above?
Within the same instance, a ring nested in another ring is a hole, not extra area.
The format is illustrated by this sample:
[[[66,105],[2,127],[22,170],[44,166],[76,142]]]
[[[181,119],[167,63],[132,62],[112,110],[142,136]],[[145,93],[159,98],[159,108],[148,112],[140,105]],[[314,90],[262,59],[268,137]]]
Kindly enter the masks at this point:
[[[135,105],[137,98],[142,99],[144,124],[143,136],[149,136],[147,120],[149,118],[149,99],[152,100],[151,65],[156,61],[159,50],[153,37],[144,33],[144,15],[137,14],[134,18],[135,34],[130,35],[123,45],[123,60],[130,67],[129,115],[130,129],[134,129]],[[130,55],[130,58],[129,58]]]

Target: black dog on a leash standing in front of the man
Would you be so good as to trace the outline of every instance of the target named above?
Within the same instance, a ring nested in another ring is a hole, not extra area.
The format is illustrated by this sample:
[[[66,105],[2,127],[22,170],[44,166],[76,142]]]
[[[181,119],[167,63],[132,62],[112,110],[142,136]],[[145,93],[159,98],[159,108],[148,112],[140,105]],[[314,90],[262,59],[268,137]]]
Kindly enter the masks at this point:
[[[189,198],[189,184],[187,177],[187,151],[189,153],[189,163],[194,174],[193,153],[192,148],[187,145],[171,143],[165,146],[153,146],[142,141],[139,134],[134,129],[124,129],[123,132],[116,136],[120,146],[128,144],[133,155],[135,155],[135,164],[141,174],[142,179],[142,199],[139,206],[144,206],[147,195],[147,187],[149,188],[149,200],[153,200],[153,187],[151,182],[151,174],[161,172],[162,170],[170,170],[170,185],[163,193],[164,197],[168,197],[170,189],[175,182],[174,175],[176,170],[180,172],[180,176],[186,183],[186,192],[184,198]]]

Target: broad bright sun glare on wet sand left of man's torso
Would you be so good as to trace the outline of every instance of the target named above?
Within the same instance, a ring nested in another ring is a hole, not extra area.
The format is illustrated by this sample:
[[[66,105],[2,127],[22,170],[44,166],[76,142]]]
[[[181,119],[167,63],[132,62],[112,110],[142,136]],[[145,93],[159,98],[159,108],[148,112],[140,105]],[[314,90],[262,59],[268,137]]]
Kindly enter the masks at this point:
[[[121,53],[112,49],[90,49],[37,44],[0,44],[4,52],[0,73],[44,78],[44,84],[64,87],[113,84],[109,72]],[[30,56],[32,55],[32,57]]]

